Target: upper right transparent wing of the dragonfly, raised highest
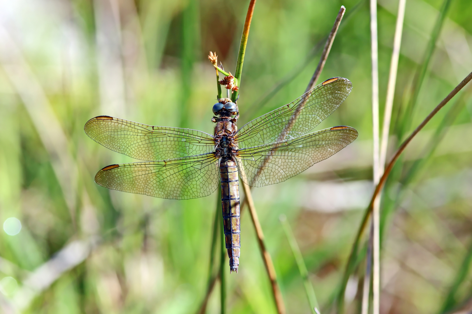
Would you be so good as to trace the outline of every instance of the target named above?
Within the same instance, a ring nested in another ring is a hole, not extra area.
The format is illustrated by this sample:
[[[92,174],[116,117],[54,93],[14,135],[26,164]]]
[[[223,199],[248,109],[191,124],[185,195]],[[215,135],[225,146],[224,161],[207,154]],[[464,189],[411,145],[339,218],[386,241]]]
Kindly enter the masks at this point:
[[[237,144],[248,148],[307,134],[341,105],[351,89],[351,82],[342,77],[324,81],[292,103],[246,123],[236,132]],[[302,109],[297,111],[299,105]]]

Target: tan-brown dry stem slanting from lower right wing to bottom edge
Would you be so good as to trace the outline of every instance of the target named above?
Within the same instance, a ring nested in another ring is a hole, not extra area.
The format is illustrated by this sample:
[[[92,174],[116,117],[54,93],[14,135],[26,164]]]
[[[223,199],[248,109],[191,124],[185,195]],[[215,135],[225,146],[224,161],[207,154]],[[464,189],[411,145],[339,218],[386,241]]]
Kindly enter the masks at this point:
[[[280,293],[280,288],[277,283],[277,275],[275,274],[274,264],[272,263],[272,258],[267,251],[264,243],[264,234],[262,233],[261,224],[259,223],[259,218],[257,217],[256,209],[254,208],[253,197],[249,186],[241,182],[243,185],[245,196],[245,202],[248,205],[249,213],[251,214],[251,219],[253,221],[254,229],[256,230],[257,242],[259,243],[259,248],[261,249],[262,259],[264,260],[264,266],[266,267],[267,274],[269,274],[270,285],[272,286],[272,292],[274,295],[275,304],[277,306],[277,312],[279,314],[285,314],[285,305]]]

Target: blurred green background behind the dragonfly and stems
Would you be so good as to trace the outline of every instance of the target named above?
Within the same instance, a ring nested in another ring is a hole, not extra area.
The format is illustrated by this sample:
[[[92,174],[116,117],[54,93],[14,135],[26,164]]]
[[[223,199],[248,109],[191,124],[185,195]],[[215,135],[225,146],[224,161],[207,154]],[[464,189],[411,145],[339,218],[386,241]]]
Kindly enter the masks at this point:
[[[216,51],[234,72],[248,3],[0,1],[0,312],[198,310],[217,193],[175,201],[102,188],[93,181],[99,169],[133,160],[83,128],[94,116],[111,115],[211,133],[217,91],[207,55]],[[418,101],[411,113],[406,108],[442,4],[406,2],[388,156],[472,71],[472,3],[451,0]],[[317,129],[349,125],[359,137],[286,182],[253,189],[288,313],[310,308],[279,215],[294,230],[321,313],[334,313],[330,305],[373,191],[368,1],[259,0],[244,60],[240,126],[303,93],[341,5],[346,16],[319,82],[342,76],[353,90]],[[379,0],[381,114],[397,5]],[[433,118],[388,180],[381,313],[470,311],[471,93],[466,86]],[[245,210],[241,233],[239,273],[227,275],[228,313],[275,313]],[[348,313],[359,311],[364,267],[349,279]],[[219,313],[218,286],[207,313]]]

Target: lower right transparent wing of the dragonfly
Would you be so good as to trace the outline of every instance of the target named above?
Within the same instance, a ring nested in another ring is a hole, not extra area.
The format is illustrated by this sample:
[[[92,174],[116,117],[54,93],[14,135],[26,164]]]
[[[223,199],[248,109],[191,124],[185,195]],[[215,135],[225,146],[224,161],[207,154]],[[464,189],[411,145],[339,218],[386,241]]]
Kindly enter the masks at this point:
[[[351,127],[339,126],[287,141],[240,149],[236,155],[240,176],[260,187],[287,180],[337,153],[357,137]]]

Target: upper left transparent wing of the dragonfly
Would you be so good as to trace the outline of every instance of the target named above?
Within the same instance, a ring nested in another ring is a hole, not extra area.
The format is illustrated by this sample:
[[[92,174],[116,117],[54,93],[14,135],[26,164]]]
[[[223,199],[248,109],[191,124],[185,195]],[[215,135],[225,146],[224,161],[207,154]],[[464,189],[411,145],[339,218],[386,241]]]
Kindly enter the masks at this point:
[[[210,134],[180,128],[153,127],[109,116],[90,119],[85,133],[111,150],[140,160],[156,161],[210,153]]]

